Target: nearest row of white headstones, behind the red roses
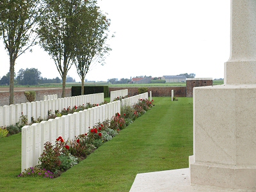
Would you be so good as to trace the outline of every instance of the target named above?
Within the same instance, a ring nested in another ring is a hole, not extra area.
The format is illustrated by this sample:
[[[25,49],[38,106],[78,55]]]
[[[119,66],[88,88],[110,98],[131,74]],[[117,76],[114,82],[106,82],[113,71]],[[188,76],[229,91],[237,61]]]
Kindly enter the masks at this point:
[[[74,140],[87,133],[89,127],[111,120],[116,113],[120,113],[120,100],[22,127],[22,172],[38,164],[47,141],[54,144],[59,136],[65,141]]]

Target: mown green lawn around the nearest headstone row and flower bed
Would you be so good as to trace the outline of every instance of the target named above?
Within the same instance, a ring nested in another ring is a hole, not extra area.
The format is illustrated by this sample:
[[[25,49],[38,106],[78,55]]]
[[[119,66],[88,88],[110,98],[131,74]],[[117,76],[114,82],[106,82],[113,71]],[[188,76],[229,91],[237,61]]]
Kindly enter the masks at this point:
[[[129,191],[137,173],[188,167],[193,99],[154,97],[155,106],[56,179],[18,178],[21,135],[0,139],[0,191]]]

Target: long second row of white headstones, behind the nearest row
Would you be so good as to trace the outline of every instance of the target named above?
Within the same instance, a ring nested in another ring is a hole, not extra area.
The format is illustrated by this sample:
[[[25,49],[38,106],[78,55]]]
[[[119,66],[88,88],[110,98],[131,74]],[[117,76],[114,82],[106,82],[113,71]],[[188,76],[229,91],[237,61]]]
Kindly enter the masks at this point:
[[[0,106],[0,127],[16,124],[19,122],[22,114],[27,115],[28,122],[31,123],[31,117],[35,119],[39,117],[46,119],[49,110],[54,113],[55,110],[61,111],[63,108],[68,108],[69,106],[73,108],[74,106],[82,106],[86,103],[100,104],[102,102],[104,102],[104,93],[95,93]]]

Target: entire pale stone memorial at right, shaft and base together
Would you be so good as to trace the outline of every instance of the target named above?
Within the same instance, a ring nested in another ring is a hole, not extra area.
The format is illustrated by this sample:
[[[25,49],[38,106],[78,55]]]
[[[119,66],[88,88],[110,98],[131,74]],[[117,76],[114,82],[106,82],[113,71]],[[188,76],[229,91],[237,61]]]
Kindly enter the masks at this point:
[[[194,88],[191,185],[256,189],[256,1],[231,1],[230,58],[220,86]]]

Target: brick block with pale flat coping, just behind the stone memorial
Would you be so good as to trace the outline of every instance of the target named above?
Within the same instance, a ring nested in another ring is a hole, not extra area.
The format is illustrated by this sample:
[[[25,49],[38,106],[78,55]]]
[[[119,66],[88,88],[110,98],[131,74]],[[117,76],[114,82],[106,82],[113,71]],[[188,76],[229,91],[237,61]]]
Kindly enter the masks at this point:
[[[193,97],[193,88],[198,86],[212,86],[212,78],[188,78],[186,84],[186,97]]]

